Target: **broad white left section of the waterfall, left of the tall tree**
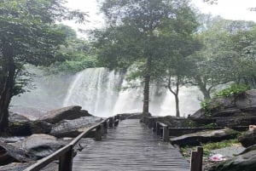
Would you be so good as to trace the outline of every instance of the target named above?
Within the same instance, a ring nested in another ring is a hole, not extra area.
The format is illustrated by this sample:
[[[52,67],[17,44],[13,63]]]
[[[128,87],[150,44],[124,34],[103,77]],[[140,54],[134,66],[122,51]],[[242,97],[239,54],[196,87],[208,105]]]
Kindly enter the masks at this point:
[[[81,105],[90,113],[108,117],[119,94],[122,75],[106,68],[89,68],[75,77],[63,106]]]

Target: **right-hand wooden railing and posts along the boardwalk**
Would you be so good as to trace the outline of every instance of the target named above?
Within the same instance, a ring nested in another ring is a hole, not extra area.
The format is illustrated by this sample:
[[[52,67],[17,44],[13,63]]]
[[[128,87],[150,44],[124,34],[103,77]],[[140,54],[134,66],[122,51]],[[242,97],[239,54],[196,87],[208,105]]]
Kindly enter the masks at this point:
[[[153,131],[163,137],[163,141],[170,141],[169,134],[171,128],[165,123],[157,122],[156,117],[143,117],[142,122],[148,125],[148,128],[153,128]],[[196,151],[191,151],[190,159],[190,171],[201,171],[202,170],[202,157],[203,148],[201,146],[197,147]]]

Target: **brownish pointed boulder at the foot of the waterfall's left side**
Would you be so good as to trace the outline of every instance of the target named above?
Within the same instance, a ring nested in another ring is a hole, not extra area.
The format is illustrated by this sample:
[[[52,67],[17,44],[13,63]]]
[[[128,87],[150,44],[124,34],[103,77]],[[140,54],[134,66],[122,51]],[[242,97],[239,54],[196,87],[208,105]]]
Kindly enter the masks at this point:
[[[59,123],[62,120],[73,120],[79,117],[89,117],[91,116],[88,111],[81,110],[82,107],[79,105],[73,105],[68,107],[63,107],[61,109],[48,111],[41,117],[41,120],[48,123]]]

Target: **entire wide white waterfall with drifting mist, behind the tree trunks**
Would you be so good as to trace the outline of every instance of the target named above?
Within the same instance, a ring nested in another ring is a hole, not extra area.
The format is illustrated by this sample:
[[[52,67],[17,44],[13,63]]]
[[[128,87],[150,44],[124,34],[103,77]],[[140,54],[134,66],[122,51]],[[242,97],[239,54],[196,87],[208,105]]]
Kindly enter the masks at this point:
[[[11,111],[40,117],[45,111],[68,105],[81,105],[97,117],[141,112],[143,88],[126,88],[125,74],[106,68],[89,68],[75,75],[45,75],[33,68],[36,89],[11,103]],[[200,108],[197,88],[181,88],[180,114],[187,116]],[[151,86],[149,111],[155,116],[175,115],[175,100],[165,88]]]

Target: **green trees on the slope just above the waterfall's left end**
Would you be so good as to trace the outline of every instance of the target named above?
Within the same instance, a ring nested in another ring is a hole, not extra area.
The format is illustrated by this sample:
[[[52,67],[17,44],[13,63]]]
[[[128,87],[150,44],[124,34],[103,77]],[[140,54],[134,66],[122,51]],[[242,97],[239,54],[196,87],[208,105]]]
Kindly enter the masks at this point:
[[[77,37],[76,32],[69,26],[59,25],[67,37],[65,44],[61,45],[58,52],[65,57],[64,61],[55,61],[44,70],[53,73],[75,73],[85,68],[96,67],[96,49],[84,38]]]

